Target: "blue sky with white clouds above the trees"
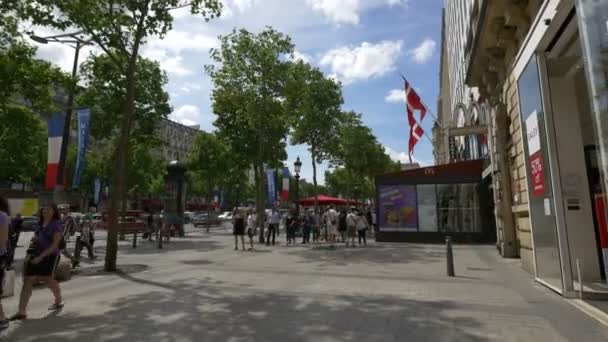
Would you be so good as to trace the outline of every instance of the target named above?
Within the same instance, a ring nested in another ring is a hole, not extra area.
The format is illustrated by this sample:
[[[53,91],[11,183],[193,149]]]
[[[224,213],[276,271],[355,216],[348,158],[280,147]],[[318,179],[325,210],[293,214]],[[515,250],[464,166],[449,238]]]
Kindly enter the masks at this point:
[[[210,22],[178,10],[173,31],[162,40],[150,39],[144,47],[143,55],[158,60],[169,75],[172,119],[213,130],[212,84],[203,70],[209,49],[217,46],[218,35],[235,27],[258,32],[270,25],[291,36],[297,58],[341,80],[344,109],[363,114],[393,159],[407,159],[409,128],[399,73],[435,113],[441,0],[224,0],[224,5],[222,17]],[[69,49],[48,45],[40,47],[39,56],[69,70],[73,55]],[[423,127],[430,136],[430,116]],[[288,165],[299,155],[303,177],[312,179],[306,146],[290,147],[288,154]],[[426,138],[414,157],[432,164],[432,146]],[[321,182],[326,168],[319,168]]]

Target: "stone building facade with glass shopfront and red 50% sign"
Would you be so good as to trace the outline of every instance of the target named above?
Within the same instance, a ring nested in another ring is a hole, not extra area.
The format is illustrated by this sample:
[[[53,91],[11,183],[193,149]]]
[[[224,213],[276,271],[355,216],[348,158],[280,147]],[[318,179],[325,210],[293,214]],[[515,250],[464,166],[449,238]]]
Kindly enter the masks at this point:
[[[454,1],[458,2],[458,1]],[[472,2],[465,82],[488,104],[501,254],[564,296],[606,278],[608,2]]]

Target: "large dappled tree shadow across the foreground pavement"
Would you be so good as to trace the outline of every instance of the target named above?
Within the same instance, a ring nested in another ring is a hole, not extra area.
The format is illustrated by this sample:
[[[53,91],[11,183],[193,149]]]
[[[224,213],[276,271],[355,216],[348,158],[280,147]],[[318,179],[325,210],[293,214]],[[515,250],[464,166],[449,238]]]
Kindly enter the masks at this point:
[[[97,315],[49,315],[19,323],[11,341],[486,341],[482,322],[457,317],[450,301],[392,296],[300,298],[274,292],[226,291],[215,283],[160,283],[121,298]],[[184,280],[187,281],[187,280]],[[205,282],[203,280],[202,282]]]

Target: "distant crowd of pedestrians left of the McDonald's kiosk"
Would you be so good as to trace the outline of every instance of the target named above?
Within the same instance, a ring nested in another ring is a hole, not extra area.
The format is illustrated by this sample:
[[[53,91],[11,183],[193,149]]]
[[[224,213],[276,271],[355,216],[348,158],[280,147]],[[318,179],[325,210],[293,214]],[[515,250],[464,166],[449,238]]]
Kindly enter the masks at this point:
[[[258,219],[262,220],[262,232],[258,232]],[[301,237],[302,244],[324,241],[332,246],[344,243],[346,247],[364,247],[368,233],[375,232],[376,217],[371,208],[330,206],[319,213],[314,209],[300,211],[295,208],[281,212],[275,207],[258,218],[255,209],[238,207],[233,210],[232,224],[235,250],[239,250],[239,241],[242,249],[246,249],[245,235],[249,237],[249,250],[254,249],[257,236],[267,246],[275,245],[281,230],[285,232],[287,246],[296,245]]]

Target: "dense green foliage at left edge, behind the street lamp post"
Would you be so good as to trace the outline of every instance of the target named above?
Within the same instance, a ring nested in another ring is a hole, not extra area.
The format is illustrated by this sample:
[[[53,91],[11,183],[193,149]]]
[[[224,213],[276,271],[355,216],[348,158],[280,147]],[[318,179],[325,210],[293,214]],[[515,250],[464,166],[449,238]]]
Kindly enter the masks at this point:
[[[0,15],[0,25],[3,19]],[[68,81],[58,68],[37,60],[35,48],[4,33],[0,34],[0,179],[41,181],[47,148],[43,116],[59,110],[55,89]]]

